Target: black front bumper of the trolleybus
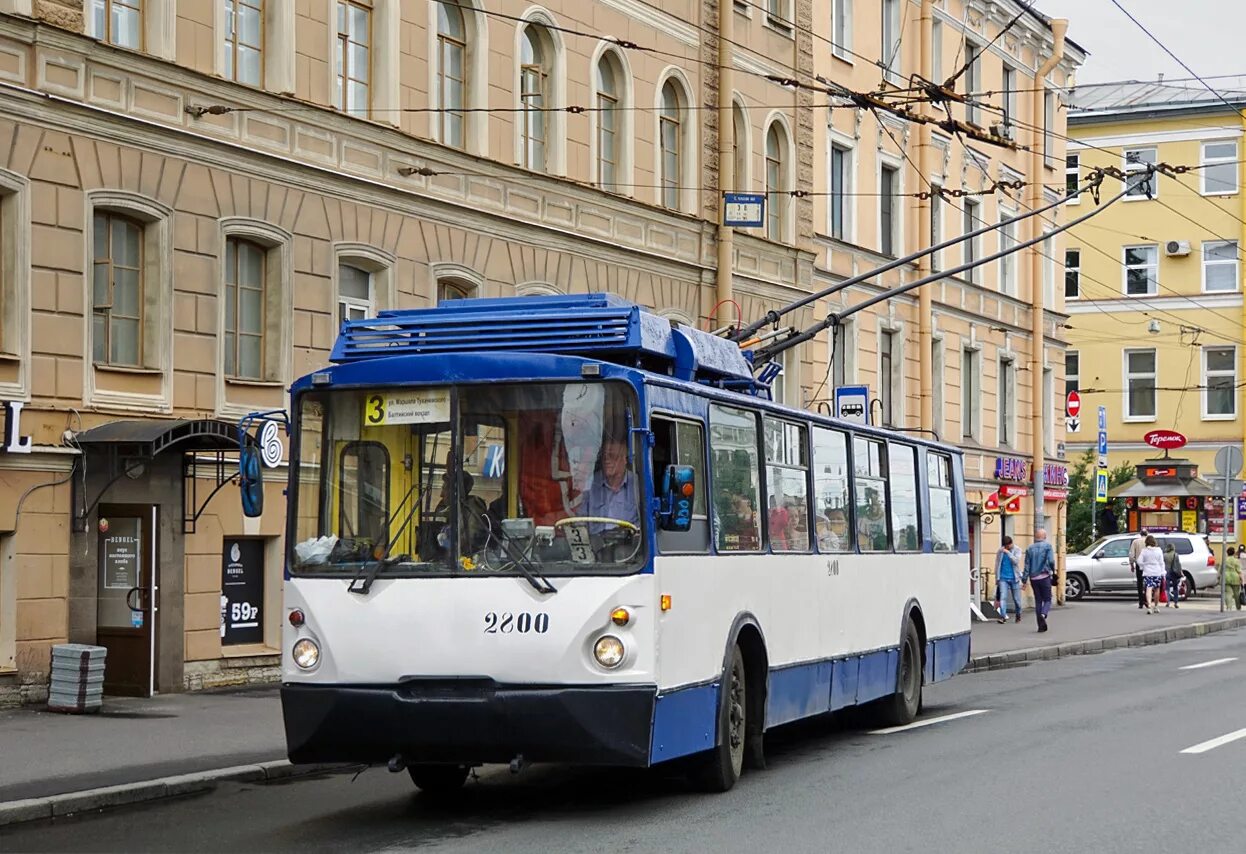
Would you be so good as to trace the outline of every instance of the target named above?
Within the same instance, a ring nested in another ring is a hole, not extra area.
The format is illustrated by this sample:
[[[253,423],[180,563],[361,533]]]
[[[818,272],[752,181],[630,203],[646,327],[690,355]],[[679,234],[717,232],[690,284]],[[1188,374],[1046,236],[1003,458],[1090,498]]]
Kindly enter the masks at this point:
[[[649,764],[654,686],[506,686],[491,679],[397,684],[287,683],[290,762]]]

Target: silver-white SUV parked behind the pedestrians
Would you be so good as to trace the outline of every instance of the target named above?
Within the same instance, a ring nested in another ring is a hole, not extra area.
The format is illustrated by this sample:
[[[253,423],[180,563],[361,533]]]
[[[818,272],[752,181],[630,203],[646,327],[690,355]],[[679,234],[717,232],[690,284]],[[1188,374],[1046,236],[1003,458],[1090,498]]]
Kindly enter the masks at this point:
[[[1078,600],[1090,591],[1135,590],[1134,572],[1129,569],[1129,546],[1136,534],[1116,534],[1099,539],[1085,551],[1069,555],[1064,561],[1064,596]],[[1195,590],[1220,583],[1216,557],[1200,534],[1156,534],[1160,549],[1171,542],[1181,561],[1181,598]]]

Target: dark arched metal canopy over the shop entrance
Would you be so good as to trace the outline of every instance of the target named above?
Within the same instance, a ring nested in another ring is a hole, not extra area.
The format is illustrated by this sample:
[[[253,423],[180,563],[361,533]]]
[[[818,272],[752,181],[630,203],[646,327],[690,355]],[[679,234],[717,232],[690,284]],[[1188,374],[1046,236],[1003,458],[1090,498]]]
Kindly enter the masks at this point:
[[[237,454],[238,425],[221,419],[163,419],[111,421],[86,430],[76,436],[83,454],[90,454],[92,465],[102,458],[107,482],[98,495],[87,500],[85,482],[74,480],[74,530],[86,531],[87,519],[108,489],[126,475],[141,476],[147,464],[159,454],[176,451],[183,455],[182,469],[182,530],[194,532],[194,525],[221,489],[238,476]],[[254,441],[247,436],[245,441]],[[233,463],[233,465],[231,465]],[[201,502],[198,480],[213,476],[216,486]]]

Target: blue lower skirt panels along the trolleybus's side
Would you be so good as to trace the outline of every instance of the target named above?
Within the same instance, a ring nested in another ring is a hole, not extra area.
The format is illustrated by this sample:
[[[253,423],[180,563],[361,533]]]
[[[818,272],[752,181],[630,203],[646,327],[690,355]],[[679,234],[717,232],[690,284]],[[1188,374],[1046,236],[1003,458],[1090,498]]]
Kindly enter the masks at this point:
[[[969,633],[926,642],[926,682],[947,679],[969,662]],[[766,728],[868,703],[896,691],[900,647],[770,671]],[[653,709],[649,762],[657,764],[718,743],[719,683],[659,693]]]

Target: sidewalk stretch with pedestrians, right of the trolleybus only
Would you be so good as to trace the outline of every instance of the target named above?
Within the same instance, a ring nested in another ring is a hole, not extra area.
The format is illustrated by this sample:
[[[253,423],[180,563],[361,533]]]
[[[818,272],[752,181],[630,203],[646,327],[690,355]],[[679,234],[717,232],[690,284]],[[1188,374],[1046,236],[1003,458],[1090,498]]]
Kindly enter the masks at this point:
[[[1048,631],[1039,635],[1033,608],[1022,611],[1020,622],[973,623],[971,669],[1007,667],[1023,661],[1039,661],[1103,652],[1126,646],[1169,643],[1209,632],[1246,626],[1246,611],[1220,612],[1220,602],[1194,598],[1180,608],[1160,605],[1159,613],[1146,613],[1129,598],[1088,598],[1053,606]]]

